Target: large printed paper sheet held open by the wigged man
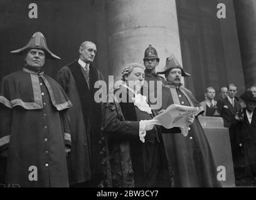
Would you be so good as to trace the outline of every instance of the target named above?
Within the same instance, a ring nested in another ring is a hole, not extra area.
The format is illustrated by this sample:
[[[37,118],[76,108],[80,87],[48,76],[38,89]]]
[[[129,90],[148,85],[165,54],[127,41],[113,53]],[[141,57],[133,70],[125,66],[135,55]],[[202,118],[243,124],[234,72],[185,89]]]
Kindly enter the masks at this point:
[[[188,134],[188,116],[198,115],[201,110],[198,107],[181,106],[178,104],[171,104],[165,111],[154,119],[159,121],[159,125],[166,129],[179,127],[181,133],[186,136]]]

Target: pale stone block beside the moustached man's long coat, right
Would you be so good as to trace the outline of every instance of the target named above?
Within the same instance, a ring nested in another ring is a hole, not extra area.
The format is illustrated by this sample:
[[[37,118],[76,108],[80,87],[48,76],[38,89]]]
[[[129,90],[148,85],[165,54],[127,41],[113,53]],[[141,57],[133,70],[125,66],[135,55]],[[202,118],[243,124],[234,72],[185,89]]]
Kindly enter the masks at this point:
[[[235,187],[232,151],[228,128],[224,127],[223,119],[217,117],[198,117],[206,138],[211,147],[217,171],[225,170],[226,179],[221,181],[223,187]],[[219,166],[219,168],[218,168]]]

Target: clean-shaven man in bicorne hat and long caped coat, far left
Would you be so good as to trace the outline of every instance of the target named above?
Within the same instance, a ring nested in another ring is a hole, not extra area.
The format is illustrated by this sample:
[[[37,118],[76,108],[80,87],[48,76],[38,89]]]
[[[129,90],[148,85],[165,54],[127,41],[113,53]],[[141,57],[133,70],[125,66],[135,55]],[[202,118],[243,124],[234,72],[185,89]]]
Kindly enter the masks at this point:
[[[0,83],[0,153],[7,158],[9,187],[68,187],[68,108],[61,86],[44,73],[51,53],[41,32],[11,53],[25,56],[22,71]]]

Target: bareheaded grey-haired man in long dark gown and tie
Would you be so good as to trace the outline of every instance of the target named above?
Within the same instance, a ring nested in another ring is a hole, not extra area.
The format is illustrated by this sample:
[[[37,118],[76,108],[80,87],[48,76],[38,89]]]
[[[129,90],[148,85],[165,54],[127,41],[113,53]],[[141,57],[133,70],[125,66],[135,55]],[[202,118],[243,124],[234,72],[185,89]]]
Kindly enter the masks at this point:
[[[97,187],[102,179],[100,156],[100,128],[102,108],[96,103],[96,81],[103,80],[100,71],[93,66],[97,47],[85,41],[79,48],[79,58],[58,72],[57,80],[73,103],[70,110],[71,139],[73,141],[68,160],[71,186]]]

